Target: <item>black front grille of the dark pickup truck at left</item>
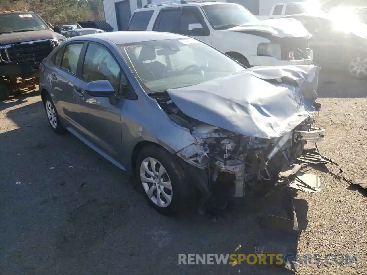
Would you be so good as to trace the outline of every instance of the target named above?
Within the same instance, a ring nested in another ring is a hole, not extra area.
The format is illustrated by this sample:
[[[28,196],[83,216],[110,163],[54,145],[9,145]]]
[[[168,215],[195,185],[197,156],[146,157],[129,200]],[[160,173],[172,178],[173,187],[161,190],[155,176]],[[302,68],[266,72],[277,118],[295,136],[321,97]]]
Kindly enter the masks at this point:
[[[11,62],[41,62],[57,46],[55,41],[39,41],[32,44],[13,44],[8,49],[8,55]]]

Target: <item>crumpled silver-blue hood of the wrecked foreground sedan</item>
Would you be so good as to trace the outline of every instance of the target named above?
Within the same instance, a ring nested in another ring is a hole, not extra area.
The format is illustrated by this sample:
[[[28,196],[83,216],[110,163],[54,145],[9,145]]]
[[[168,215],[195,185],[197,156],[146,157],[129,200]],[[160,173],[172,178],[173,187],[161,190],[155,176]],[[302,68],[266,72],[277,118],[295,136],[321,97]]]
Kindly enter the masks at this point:
[[[292,131],[313,114],[319,72],[320,67],[313,65],[254,67],[167,92],[189,117],[241,135],[271,139]]]

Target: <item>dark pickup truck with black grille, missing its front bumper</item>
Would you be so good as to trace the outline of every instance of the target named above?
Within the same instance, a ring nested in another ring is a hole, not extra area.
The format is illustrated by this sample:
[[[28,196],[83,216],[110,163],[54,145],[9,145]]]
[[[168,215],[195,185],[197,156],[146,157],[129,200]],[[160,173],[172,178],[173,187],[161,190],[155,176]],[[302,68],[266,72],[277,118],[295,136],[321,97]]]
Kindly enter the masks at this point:
[[[32,11],[0,12],[0,100],[38,83],[40,62],[65,40],[58,32]]]

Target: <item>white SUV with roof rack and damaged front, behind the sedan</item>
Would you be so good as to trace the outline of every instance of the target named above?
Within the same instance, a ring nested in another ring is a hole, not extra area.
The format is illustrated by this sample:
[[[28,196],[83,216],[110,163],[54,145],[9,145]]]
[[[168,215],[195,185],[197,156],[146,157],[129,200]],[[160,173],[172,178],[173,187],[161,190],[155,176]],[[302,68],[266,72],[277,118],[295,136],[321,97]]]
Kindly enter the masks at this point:
[[[308,65],[311,35],[294,19],[259,21],[239,4],[175,1],[134,12],[128,30],[180,33],[219,49],[245,66]]]

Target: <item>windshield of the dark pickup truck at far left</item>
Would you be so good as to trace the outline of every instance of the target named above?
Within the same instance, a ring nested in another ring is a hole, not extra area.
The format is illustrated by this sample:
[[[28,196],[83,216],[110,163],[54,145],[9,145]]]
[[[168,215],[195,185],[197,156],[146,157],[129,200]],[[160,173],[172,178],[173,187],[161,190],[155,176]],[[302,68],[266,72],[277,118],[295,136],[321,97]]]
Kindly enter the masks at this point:
[[[34,13],[11,13],[0,15],[0,33],[46,30],[47,25]]]

